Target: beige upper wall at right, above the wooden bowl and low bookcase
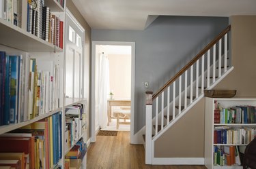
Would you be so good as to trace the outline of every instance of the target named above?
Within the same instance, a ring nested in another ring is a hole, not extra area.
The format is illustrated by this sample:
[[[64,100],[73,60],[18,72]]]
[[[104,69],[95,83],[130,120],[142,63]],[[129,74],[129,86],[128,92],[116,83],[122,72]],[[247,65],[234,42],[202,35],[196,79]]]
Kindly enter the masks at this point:
[[[231,16],[234,70],[215,89],[237,90],[236,97],[256,97],[256,16]]]

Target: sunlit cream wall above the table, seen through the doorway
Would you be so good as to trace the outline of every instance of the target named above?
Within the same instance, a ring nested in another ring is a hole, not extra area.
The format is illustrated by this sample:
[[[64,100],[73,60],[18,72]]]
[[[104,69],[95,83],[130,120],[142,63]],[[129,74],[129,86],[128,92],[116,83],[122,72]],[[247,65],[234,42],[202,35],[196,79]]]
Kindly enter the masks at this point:
[[[108,54],[109,89],[113,98],[130,99],[132,56],[129,54]]]

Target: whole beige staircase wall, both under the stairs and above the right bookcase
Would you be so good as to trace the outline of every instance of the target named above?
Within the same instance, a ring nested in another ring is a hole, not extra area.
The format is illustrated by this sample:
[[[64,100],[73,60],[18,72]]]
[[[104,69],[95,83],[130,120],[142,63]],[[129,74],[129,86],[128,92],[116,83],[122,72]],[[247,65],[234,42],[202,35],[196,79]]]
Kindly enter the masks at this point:
[[[236,97],[256,97],[256,16],[231,17],[234,70],[216,88],[237,90]],[[203,157],[204,99],[156,140],[155,157]]]

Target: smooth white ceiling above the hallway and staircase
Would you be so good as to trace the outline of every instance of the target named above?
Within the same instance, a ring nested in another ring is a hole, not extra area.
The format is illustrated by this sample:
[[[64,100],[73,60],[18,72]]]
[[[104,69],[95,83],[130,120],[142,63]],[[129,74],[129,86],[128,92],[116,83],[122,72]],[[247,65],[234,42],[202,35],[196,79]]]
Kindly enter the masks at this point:
[[[143,30],[160,15],[227,17],[256,15],[256,0],[72,1],[91,29]]]

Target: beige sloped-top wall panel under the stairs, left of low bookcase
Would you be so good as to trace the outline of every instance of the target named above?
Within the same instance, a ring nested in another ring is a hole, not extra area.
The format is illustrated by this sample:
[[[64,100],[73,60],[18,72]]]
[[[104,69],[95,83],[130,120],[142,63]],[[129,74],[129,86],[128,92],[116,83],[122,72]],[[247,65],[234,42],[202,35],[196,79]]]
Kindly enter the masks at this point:
[[[155,145],[155,157],[203,157],[204,99],[163,134]]]

